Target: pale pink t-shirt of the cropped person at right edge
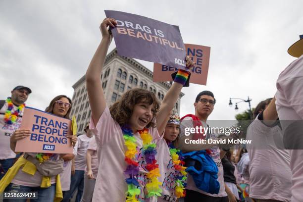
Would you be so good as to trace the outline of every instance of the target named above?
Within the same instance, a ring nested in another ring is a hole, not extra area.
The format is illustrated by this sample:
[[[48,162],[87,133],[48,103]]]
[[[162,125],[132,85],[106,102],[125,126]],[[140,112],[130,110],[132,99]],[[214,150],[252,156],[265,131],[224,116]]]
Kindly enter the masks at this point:
[[[282,131],[287,128],[283,120],[303,119],[303,55],[293,61],[277,80],[276,106],[282,120]],[[286,134],[287,135],[287,134]],[[291,138],[291,137],[289,137]],[[303,150],[290,151],[292,170],[292,202],[303,202]]]

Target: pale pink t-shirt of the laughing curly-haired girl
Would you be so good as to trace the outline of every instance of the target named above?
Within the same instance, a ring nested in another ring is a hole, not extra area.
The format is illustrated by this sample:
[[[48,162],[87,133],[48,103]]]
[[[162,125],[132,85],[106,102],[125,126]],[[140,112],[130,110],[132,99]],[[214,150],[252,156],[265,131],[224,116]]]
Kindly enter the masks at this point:
[[[93,201],[123,202],[126,199],[125,179],[128,178],[128,175],[123,173],[126,169],[124,161],[126,146],[120,125],[111,117],[106,106],[96,127],[91,119],[90,129],[95,134],[98,152],[100,151],[101,154]],[[149,131],[153,140],[160,138],[156,128],[151,127]],[[156,202],[155,197],[146,198],[145,196],[144,188],[147,183],[148,170],[145,168],[145,160],[142,155],[143,142],[139,133],[135,133],[134,137],[137,140],[137,151],[139,152],[139,155],[136,156],[140,165],[139,174],[136,176],[141,190],[139,201]]]

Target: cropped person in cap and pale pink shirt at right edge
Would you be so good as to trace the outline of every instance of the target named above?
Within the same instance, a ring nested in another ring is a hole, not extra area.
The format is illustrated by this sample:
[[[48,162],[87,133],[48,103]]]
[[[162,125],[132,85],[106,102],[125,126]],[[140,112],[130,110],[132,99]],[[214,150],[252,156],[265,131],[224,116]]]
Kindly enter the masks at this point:
[[[286,147],[292,149],[290,151],[290,167],[293,174],[292,202],[303,202],[303,135],[302,122],[298,121],[303,120],[303,35],[300,35],[300,40],[288,49],[288,53],[298,58],[279,75],[276,85],[278,89],[276,106],[281,120],[283,138],[287,141]],[[292,132],[295,127],[290,124],[297,123],[299,124],[297,126],[301,126],[301,128]],[[290,145],[288,145],[289,143]],[[293,147],[294,145],[299,147]]]

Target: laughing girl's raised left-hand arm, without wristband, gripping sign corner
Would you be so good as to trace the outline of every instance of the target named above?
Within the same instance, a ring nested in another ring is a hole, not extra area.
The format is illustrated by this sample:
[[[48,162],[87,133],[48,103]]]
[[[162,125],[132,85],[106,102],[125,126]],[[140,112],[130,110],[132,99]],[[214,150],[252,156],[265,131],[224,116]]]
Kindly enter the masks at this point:
[[[116,24],[117,23],[113,18],[105,18],[101,23],[100,30],[102,34],[102,40],[86,72],[86,87],[95,125],[97,124],[106,106],[106,101],[101,85],[101,73],[106,53],[112,40],[112,35],[109,33],[107,27],[114,27]]]

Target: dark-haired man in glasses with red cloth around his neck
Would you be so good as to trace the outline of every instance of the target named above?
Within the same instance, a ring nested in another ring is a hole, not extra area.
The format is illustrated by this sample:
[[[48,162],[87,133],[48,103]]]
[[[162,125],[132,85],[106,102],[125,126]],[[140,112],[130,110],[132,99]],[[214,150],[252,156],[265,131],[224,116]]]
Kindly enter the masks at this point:
[[[191,133],[190,135],[185,135],[186,128],[196,128],[197,126],[208,127],[206,124],[208,116],[211,114],[216,100],[213,96],[213,93],[210,91],[202,91],[196,97],[196,101],[194,103],[195,106],[195,115],[188,114],[184,116],[181,120],[181,134],[179,140],[179,148],[182,149],[182,152],[193,152],[193,151],[202,151],[207,150],[215,164],[218,168],[217,181],[220,184],[220,187],[214,186],[214,193],[210,194],[205,191],[199,189],[194,181],[194,178],[189,174],[187,178],[187,188],[186,188],[186,197],[184,199],[185,202],[229,202],[229,197],[227,197],[227,193],[225,191],[225,184],[223,179],[223,166],[220,157],[220,149],[217,144],[186,144],[186,139],[197,140],[199,139],[215,139],[214,134],[198,134]],[[225,152],[224,152],[225,154]],[[222,156],[222,154],[221,154]],[[224,156],[224,155],[223,155]],[[222,156],[222,157],[223,157]],[[196,168],[196,165],[195,165]],[[216,184],[218,185],[218,183]],[[231,193],[229,193],[230,195]],[[236,199],[230,196],[231,202],[236,202]]]

